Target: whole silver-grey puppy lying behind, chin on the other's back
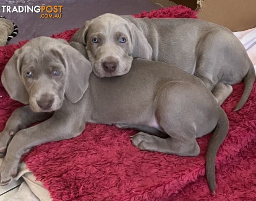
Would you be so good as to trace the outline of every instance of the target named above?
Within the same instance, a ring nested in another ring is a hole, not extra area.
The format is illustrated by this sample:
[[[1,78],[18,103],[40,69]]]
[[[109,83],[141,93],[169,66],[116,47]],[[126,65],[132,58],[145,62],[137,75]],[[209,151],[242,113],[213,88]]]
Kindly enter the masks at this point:
[[[245,90],[235,110],[246,103],[255,80],[253,64],[235,35],[198,19],[107,13],[86,21],[71,41],[86,45],[98,77],[124,75],[133,58],[166,62],[199,77],[220,105],[232,93],[231,85],[244,80]]]

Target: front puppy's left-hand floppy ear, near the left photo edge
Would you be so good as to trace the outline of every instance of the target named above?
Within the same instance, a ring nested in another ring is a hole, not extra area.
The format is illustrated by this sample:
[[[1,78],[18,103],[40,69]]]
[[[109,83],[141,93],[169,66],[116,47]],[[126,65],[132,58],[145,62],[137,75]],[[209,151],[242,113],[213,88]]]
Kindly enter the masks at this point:
[[[29,93],[21,81],[23,56],[24,51],[22,48],[14,52],[3,70],[1,81],[10,98],[23,104],[29,104]]]

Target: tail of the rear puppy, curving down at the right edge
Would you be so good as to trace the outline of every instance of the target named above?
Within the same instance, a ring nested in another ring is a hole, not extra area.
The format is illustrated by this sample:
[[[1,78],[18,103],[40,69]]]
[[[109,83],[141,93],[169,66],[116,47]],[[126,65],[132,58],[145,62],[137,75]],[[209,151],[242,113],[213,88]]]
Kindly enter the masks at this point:
[[[246,103],[247,99],[249,98],[249,95],[251,94],[251,90],[253,89],[254,81],[255,81],[255,70],[254,70],[253,64],[251,63],[250,68],[246,74],[246,77],[243,78],[243,82],[244,82],[243,95],[240,101],[238,102],[238,104],[235,106],[234,111],[240,110],[243,107],[243,105]]]

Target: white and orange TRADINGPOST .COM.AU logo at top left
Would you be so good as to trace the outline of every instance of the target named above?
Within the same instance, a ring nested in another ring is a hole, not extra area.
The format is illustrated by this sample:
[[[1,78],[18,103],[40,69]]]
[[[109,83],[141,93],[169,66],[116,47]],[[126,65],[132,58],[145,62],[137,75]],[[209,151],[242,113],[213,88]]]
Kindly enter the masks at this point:
[[[1,13],[41,13],[40,18],[61,18],[63,5],[1,5]]]

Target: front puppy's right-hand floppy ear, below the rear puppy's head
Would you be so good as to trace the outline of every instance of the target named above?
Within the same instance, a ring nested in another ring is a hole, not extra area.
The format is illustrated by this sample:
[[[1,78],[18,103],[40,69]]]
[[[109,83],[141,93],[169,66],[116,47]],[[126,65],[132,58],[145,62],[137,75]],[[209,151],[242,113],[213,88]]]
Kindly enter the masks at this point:
[[[70,45],[63,44],[54,53],[58,54],[66,69],[65,96],[71,103],[76,103],[88,88],[91,63]]]

